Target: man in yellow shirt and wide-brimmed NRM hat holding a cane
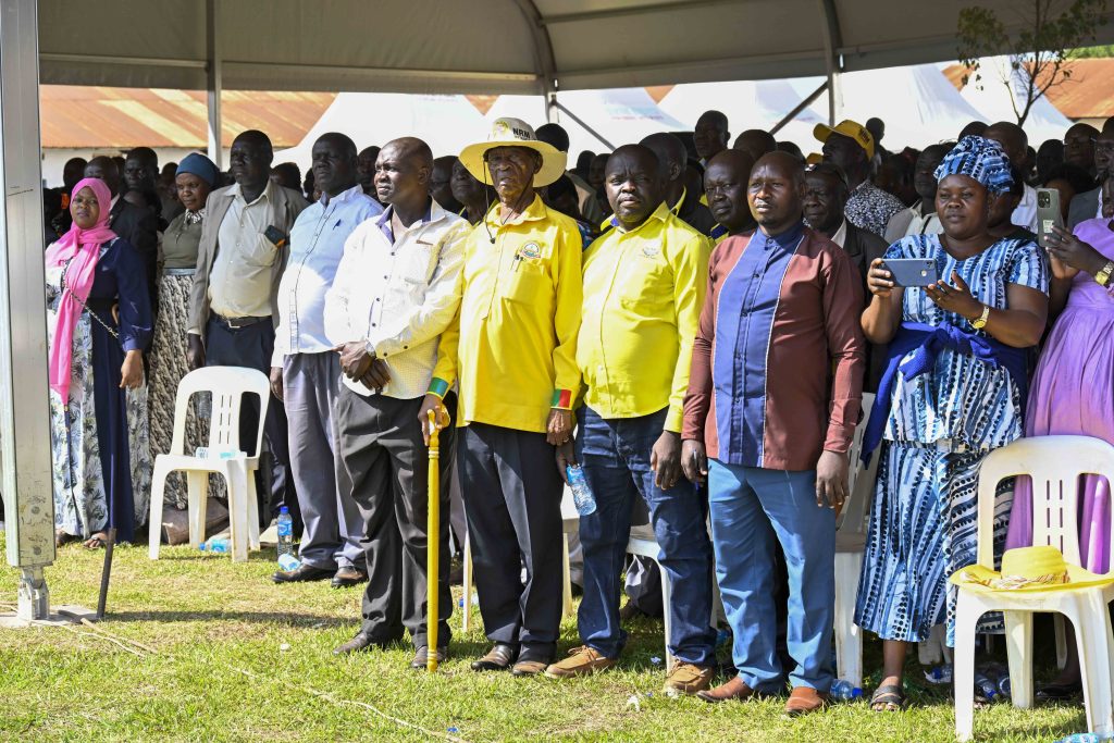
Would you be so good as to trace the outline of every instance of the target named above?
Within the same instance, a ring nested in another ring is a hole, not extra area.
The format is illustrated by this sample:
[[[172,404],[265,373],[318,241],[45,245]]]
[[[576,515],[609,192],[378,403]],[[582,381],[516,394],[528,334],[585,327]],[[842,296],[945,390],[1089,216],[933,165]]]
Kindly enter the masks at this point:
[[[472,668],[514,664],[515,675],[534,675],[553,661],[560,624],[554,447],[571,437],[579,394],[580,233],[535,193],[565,173],[565,155],[524,121],[496,119],[460,162],[499,202],[466,242],[460,314],[441,339],[422,416],[458,383],[457,461],[480,614],[495,643]]]

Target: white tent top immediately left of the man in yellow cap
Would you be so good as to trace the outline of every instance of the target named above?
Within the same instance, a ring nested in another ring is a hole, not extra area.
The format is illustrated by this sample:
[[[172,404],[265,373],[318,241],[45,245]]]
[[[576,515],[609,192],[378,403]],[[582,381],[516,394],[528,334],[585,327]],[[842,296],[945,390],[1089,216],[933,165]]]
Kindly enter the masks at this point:
[[[822,78],[804,78],[800,81],[800,92],[786,80],[737,80],[732,82],[692,82],[675,86],[662,98],[661,107],[685,124],[691,130],[696,119],[709,109],[722,111],[727,117],[727,128],[734,140],[746,129],[771,129],[786,114],[822,82]],[[809,151],[812,127],[827,121],[828,115],[819,115],[804,109],[792,121],[778,130],[780,140],[790,140]]]

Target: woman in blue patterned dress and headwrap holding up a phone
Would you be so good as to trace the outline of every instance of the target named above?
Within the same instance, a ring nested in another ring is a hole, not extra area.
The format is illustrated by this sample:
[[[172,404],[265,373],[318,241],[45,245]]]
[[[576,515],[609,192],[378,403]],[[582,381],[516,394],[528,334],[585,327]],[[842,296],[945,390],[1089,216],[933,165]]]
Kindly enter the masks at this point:
[[[882,682],[871,706],[900,708],[909,643],[947,624],[947,578],[975,561],[976,495],[983,459],[1022,436],[1026,352],[1048,311],[1044,256],[1027,239],[988,232],[990,209],[1010,184],[1000,147],[966,137],[936,170],[941,235],[910,235],[871,264],[862,315],[890,360],[867,427],[864,454],[881,443],[878,485],[862,560],[856,624],[883,642]],[[931,258],[939,280],[900,287],[887,258]],[[995,508],[1005,539],[1008,490]]]

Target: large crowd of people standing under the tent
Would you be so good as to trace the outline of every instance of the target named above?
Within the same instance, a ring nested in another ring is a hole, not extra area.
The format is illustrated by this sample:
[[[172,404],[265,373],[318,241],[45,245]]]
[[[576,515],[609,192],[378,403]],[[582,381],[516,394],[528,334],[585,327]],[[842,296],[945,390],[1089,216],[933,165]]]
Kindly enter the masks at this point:
[[[427,542],[448,555],[467,532],[491,643],[473,669],[614,666],[659,565],[666,693],[789,687],[805,714],[833,682],[836,521],[861,426],[880,466],[854,622],[883,641],[872,708],[902,708],[910,644],[952,644],[981,461],[1023,436],[1114,442],[1114,118],[1037,150],[1010,123],[957,134],[889,153],[882,121],[847,120],[817,126],[805,157],[756,129],[732,143],[707,111],[691,149],[658,133],[571,168],[564,129],[510,118],[437,158],[416,137],[358,151],[324,134],[304,182],[257,130],[227,174],[201,154],[160,174],[145,147],[71,160],[46,215],[58,544],[133,540],[178,381],[256,369],[274,398],[261,514],[285,506],[302,535],[274,580],[367,583],[335,653],[409,634],[414,667],[447,657],[449,560],[429,576]],[[1066,225],[1044,246],[1035,186],[1059,193]],[[937,278],[901,286],[897,258]],[[437,535],[431,413],[450,454]],[[242,441],[258,417],[245,407]],[[189,446],[205,426],[190,419]],[[596,507],[579,519],[580,644],[558,658],[569,467]],[[1110,486],[1081,488],[1085,567],[1105,573]],[[1030,500],[1025,481],[999,488],[997,554],[1030,542]],[[165,509],[185,505],[168,487]],[[625,555],[639,520],[657,565]],[[735,669],[719,685],[713,581]],[[1069,663],[1043,693],[1078,688]]]

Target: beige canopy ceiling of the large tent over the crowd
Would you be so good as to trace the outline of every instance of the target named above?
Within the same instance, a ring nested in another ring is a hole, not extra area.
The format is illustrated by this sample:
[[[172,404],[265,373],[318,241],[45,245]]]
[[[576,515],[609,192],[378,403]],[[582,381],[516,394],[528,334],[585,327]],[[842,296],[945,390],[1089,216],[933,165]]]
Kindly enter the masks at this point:
[[[40,0],[40,69],[51,84],[204,89],[214,52],[233,90],[478,94],[807,77],[825,75],[830,58],[848,71],[954,59],[969,4],[113,0],[80,13]],[[979,4],[1023,20],[1016,0]],[[1107,23],[1095,43],[1112,41]]]

